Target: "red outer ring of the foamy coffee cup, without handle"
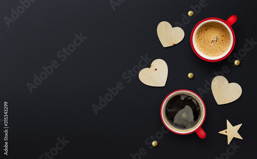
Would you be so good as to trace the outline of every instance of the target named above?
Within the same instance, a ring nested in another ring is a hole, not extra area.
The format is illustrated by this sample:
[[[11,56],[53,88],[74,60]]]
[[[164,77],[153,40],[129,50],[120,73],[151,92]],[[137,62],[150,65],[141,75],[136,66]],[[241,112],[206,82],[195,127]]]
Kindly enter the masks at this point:
[[[201,25],[203,22],[205,22],[205,21],[207,21],[207,20],[219,20],[219,21],[222,21],[222,22],[230,29],[230,31],[231,31],[231,33],[232,33],[232,36],[233,36],[232,47],[231,47],[231,49],[229,50],[229,52],[228,52],[224,57],[222,57],[222,58],[218,58],[218,59],[214,59],[214,60],[204,58],[203,56],[199,55],[199,54],[197,53],[197,51],[195,50],[195,48],[194,48],[194,44],[193,44],[193,35],[194,35],[194,32],[195,32],[196,28],[197,28],[199,25]],[[196,24],[196,26],[194,27],[194,29],[193,29],[193,31],[192,31],[192,33],[191,33],[190,42],[191,42],[191,47],[192,47],[194,53],[195,53],[199,58],[201,58],[201,59],[203,59],[203,60],[205,60],[205,61],[209,61],[209,62],[216,62],[216,61],[221,61],[221,60],[227,58],[227,57],[230,55],[230,53],[232,52],[232,50],[233,50],[233,48],[234,48],[234,46],[235,46],[235,34],[234,34],[233,29],[231,28],[231,26],[228,24],[227,21],[225,21],[225,20],[223,20],[223,19],[220,19],[220,18],[210,17],[210,18],[203,19],[203,20],[199,21],[199,22]]]

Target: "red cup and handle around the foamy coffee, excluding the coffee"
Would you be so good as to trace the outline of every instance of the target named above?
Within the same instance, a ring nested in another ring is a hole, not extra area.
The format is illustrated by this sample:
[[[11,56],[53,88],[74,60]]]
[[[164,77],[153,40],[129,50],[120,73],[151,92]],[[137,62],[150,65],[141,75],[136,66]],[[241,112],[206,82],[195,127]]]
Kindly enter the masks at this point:
[[[225,59],[226,57],[229,56],[229,54],[232,52],[234,45],[235,45],[235,34],[233,29],[231,28],[231,26],[234,24],[234,22],[236,21],[237,17],[235,15],[231,15],[226,21],[220,18],[206,18],[204,20],[201,20],[200,22],[197,23],[197,25],[194,27],[192,33],[191,33],[191,38],[190,38],[190,42],[191,42],[191,47],[194,51],[194,53],[201,59],[205,60],[205,61],[209,61],[209,62],[216,62],[216,61],[221,61],[223,59]],[[218,56],[218,57],[208,57],[205,56],[204,54],[201,54],[200,51],[197,50],[196,46],[195,46],[195,35],[196,35],[196,31],[203,26],[204,24],[206,24],[207,22],[219,22],[220,24],[222,24],[223,26],[225,26],[227,28],[227,30],[229,31],[230,34],[230,38],[231,38],[231,42],[230,42],[230,46],[229,49],[226,51],[225,54]]]

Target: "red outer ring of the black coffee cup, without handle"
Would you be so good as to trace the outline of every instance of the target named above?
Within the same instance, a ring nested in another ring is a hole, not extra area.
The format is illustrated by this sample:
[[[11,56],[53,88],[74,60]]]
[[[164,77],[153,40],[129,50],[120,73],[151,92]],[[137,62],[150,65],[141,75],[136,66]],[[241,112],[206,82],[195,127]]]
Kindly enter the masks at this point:
[[[204,107],[204,110],[205,110],[204,118],[203,118],[203,120],[201,121],[201,123],[197,126],[197,128],[195,128],[193,131],[186,132],[186,133],[183,133],[183,132],[176,132],[176,131],[172,130],[169,126],[166,125],[166,123],[164,122],[164,120],[163,120],[163,118],[162,118],[162,107],[163,107],[163,103],[166,101],[166,99],[167,99],[168,97],[170,97],[170,95],[172,95],[172,94],[174,94],[174,93],[176,93],[176,92],[179,92],[179,91],[187,91],[187,92],[190,92],[190,93],[194,94],[195,96],[197,96],[197,97],[201,100],[201,103],[203,103],[203,107]],[[206,117],[205,103],[204,103],[203,99],[201,99],[201,97],[200,97],[199,95],[197,95],[196,93],[194,93],[193,91],[188,90],[188,89],[178,89],[178,90],[175,90],[175,91],[173,91],[172,93],[170,93],[170,94],[163,100],[163,102],[162,102],[162,104],[161,104],[161,109],[160,109],[160,116],[161,116],[161,121],[162,121],[162,123],[163,123],[163,124],[167,127],[167,129],[169,129],[170,131],[172,131],[172,132],[174,132],[174,133],[177,133],[177,134],[190,134],[190,133],[193,133],[193,132],[195,132],[196,130],[198,130],[198,129],[201,127],[201,125],[203,125],[203,123],[204,123],[204,121],[205,121],[205,117]]]

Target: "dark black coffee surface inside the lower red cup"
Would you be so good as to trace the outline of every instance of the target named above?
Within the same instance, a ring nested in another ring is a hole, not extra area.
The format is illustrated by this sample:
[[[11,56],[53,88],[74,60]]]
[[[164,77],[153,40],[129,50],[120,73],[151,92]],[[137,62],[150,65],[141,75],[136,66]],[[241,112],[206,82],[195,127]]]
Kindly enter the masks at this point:
[[[188,130],[197,125],[201,119],[201,109],[195,98],[181,94],[172,97],[166,106],[166,118],[179,130]]]

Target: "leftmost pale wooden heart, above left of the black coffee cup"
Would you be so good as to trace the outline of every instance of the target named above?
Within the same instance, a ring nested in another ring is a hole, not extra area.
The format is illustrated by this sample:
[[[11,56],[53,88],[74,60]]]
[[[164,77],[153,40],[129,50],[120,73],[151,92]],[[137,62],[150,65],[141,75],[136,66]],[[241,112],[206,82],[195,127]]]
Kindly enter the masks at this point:
[[[144,68],[139,72],[139,80],[149,86],[162,87],[168,77],[167,63],[162,59],[156,59],[150,68]]]

